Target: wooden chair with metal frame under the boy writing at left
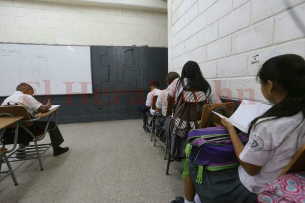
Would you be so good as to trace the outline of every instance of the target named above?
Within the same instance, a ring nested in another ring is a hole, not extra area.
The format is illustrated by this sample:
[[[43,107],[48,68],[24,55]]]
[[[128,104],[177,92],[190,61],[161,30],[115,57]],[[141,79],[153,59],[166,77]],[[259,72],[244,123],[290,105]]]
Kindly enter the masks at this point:
[[[38,159],[39,165],[40,165],[40,170],[43,171],[41,156],[51,147],[51,143],[37,144],[37,142],[43,140],[45,138],[48,130],[50,130],[48,128],[48,125],[49,125],[51,113],[54,111],[51,110],[51,111],[49,111],[49,113],[40,114],[40,115],[45,115],[45,116],[48,115],[48,119],[47,119],[47,125],[46,125],[46,128],[44,129],[44,132],[42,132],[42,134],[37,135],[37,134],[34,134],[33,131],[30,131],[27,127],[32,127],[33,121],[40,120],[42,118],[42,116],[38,116],[37,118],[33,119],[29,115],[27,109],[20,105],[0,107],[0,116],[5,116],[5,117],[23,116],[23,119],[19,121],[19,133],[14,138],[13,148],[11,150],[7,151],[7,154],[8,154],[7,157],[10,162],[23,161],[23,160],[29,160],[29,159]],[[12,130],[10,128],[13,128],[13,127],[14,127],[13,125],[8,126],[7,130]],[[20,143],[19,147],[17,147],[18,137],[25,136],[25,134],[20,133],[21,128],[22,128],[22,131],[25,131],[24,133],[29,134],[29,136],[31,136],[33,138],[33,140],[31,142],[34,142],[34,145],[25,146],[22,143]],[[0,138],[2,138],[2,136],[4,134],[5,134],[5,132],[3,132],[0,135]],[[2,142],[2,145],[4,148],[6,143],[2,139],[0,141]],[[7,162],[7,161],[5,160],[5,162]],[[0,165],[0,168],[1,168],[1,165]]]

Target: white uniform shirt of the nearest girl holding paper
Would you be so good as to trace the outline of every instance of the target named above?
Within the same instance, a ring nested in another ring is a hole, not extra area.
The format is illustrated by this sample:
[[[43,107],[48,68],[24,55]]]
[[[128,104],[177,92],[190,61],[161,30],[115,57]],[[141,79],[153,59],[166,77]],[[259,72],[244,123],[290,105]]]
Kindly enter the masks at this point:
[[[275,180],[297,150],[305,144],[305,120],[301,120],[301,112],[262,123],[258,123],[261,121],[259,120],[257,126],[251,130],[249,142],[239,158],[263,167],[257,175],[250,176],[239,166],[240,181],[249,191],[258,194],[268,182]]]

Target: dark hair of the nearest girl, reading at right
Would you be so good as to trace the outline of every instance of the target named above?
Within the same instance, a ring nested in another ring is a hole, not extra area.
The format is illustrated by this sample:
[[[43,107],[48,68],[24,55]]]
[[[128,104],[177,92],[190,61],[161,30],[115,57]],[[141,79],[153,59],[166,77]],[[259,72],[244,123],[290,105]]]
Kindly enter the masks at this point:
[[[264,121],[275,120],[296,115],[300,111],[303,113],[303,119],[305,118],[305,60],[301,56],[285,54],[270,58],[262,65],[257,79],[260,79],[261,83],[266,83],[268,80],[276,82],[288,94],[278,104],[254,119],[248,134],[261,118],[272,117]]]

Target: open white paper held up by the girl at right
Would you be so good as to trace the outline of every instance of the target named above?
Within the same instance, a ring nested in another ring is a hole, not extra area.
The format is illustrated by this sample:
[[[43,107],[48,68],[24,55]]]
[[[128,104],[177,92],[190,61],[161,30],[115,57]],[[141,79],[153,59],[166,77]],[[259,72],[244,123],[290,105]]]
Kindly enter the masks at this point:
[[[243,99],[237,110],[230,118],[227,118],[217,112],[212,112],[221,118],[225,118],[242,132],[247,133],[251,121],[253,121],[256,117],[264,114],[271,107],[271,105]]]

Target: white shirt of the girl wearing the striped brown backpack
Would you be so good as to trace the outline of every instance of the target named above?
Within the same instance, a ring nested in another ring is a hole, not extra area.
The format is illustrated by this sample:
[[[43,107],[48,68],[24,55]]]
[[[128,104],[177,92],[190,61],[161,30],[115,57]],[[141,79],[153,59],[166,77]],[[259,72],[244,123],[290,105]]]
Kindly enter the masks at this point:
[[[179,96],[179,94],[182,92],[183,87],[181,85],[181,83],[179,83],[179,88],[178,91],[175,92],[176,90],[176,86],[177,86],[177,82],[178,82],[179,78],[176,78],[168,87],[167,87],[167,93],[169,95],[171,95],[172,97],[175,97],[175,101],[177,101],[177,97]],[[185,78],[184,79],[184,84],[187,85],[188,84],[188,79]],[[209,92],[206,92],[206,95],[208,95]],[[207,103],[208,104],[219,104],[221,103],[220,98],[218,97],[218,95],[214,92],[214,90],[211,89],[211,93],[209,95],[209,97],[207,98]]]

